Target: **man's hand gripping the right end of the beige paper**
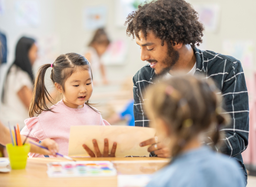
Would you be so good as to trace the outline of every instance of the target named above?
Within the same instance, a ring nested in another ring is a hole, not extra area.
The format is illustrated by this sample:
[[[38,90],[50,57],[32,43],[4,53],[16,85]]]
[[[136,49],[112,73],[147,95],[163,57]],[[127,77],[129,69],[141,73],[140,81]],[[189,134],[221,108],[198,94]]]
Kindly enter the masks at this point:
[[[147,151],[152,152],[158,156],[158,157],[163,157],[163,158],[170,158],[171,157],[171,151],[170,149],[165,146],[162,142],[157,142],[157,137],[148,139],[146,141],[143,141],[140,143],[140,147],[148,146]]]

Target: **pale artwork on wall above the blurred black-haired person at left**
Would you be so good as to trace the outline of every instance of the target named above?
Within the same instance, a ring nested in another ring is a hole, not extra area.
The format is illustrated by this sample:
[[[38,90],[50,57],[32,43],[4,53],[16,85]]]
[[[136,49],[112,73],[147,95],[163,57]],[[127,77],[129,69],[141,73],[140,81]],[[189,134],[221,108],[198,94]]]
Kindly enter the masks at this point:
[[[18,26],[39,26],[40,14],[38,1],[16,1],[15,21]]]

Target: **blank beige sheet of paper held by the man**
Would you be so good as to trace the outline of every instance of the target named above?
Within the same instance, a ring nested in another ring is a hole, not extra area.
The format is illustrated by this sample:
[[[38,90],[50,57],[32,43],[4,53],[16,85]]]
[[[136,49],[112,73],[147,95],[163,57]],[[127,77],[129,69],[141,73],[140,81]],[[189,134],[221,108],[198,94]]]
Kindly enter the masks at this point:
[[[71,126],[69,137],[69,156],[89,156],[83,148],[86,144],[94,150],[93,139],[97,140],[99,149],[103,153],[104,139],[109,140],[109,153],[114,142],[117,143],[116,157],[149,156],[148,146],[140,147],[142,141],[153,138],[155,129],[137,126]]]

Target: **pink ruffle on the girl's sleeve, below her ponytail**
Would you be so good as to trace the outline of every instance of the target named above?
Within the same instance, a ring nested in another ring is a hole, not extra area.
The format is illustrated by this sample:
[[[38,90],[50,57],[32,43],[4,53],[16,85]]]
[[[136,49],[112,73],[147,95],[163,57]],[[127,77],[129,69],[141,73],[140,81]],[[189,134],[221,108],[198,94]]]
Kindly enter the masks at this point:
[[[28,133],[30,133],[29,134],[30,137],[37,138],[40,141],[47,138],[46,135],[44,134],[43,129],[41,128],[38,117],[28,118],[24,121],[24,123],[26,124],[26,127],[22,129],[20,134],[27,136]]]

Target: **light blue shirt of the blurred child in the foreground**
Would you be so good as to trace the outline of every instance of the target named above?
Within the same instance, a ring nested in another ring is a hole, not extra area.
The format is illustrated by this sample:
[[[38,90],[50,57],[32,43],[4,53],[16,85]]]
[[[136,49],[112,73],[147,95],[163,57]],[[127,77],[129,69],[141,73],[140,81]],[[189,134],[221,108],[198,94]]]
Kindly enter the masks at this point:
[[[233,158],[203,146],[174,158],[146,187],[244,187],[239,167]]]

